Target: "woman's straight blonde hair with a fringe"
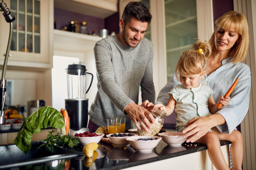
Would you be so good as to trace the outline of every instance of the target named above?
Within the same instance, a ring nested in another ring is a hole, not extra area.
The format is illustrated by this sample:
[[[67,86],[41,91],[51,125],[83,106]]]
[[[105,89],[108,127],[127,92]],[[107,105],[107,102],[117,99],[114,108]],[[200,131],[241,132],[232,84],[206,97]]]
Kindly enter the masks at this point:
[[[229,55],[233,56],[232,61],[236,64],[246,58],[249,47],[249,31],[246,17],[242,13],[236,11],[229,11],[215,21],[216,27],[213,35],[209,40],[209,44],[212,46],[212,50],[215,50],[214,34],[218,28],[224,30],[230,30],[234,28],[239,34],[238,41],[231,48]]]

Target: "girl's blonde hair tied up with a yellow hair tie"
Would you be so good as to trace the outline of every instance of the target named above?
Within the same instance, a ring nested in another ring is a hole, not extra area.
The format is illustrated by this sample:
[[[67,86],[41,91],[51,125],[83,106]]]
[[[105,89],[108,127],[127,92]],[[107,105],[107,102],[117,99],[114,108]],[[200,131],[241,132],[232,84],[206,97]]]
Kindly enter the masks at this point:
[[[197,38],[195,38],[197,39]],[[211,56],[211,46],[206,41],[200,41],[197,39],[197,42],[192,46],[192,50],[184,51],[180,56],[177,67],[175,69],[176,78],[179,81],[180,76],[187,76],[193,74],[203,74],[206,71],[208,66],[208,58]],[[199,52],[199,49],[202,49],[203,54]]]

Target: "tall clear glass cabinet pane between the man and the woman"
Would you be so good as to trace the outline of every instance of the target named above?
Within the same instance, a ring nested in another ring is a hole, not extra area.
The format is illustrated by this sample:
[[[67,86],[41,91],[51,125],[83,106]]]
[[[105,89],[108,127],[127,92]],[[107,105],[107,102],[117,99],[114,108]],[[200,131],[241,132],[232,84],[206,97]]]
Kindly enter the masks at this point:
[[[184,50],[197,38],[196,0],[165,0],[167,81]]]

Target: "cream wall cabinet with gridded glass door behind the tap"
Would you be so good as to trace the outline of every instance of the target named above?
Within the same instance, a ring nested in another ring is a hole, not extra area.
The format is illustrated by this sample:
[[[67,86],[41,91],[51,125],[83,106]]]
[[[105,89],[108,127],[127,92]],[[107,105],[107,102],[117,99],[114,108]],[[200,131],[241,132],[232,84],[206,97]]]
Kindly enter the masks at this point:
[[[8,65],[50,68],[50,2],[52,0],[4,0],[16,18]],[[51,23],[52,22],[52,23]],[[6,52],[10,24],[0,17],[0,64]],[[37,63],[37,64],[32,64]],[[38,65],[41,64],[41,65]]]

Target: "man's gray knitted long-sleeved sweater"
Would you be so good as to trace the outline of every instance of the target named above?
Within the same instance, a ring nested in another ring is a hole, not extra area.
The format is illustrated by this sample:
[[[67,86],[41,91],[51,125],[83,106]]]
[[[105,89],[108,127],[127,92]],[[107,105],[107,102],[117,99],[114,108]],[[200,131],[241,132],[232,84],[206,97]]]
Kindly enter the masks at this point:
[[[130,129],[131,119],[124,108],[131,102],[138,104],[140,86],[142,101],[155,101],[152,43],[143,38],[137,47],[127,47],[114,35],[98,41],[94,54],[98,92],[89,112],[90,120],[107,126],[106,119],[126,117],[125,130]]]

